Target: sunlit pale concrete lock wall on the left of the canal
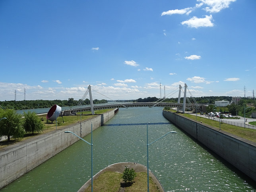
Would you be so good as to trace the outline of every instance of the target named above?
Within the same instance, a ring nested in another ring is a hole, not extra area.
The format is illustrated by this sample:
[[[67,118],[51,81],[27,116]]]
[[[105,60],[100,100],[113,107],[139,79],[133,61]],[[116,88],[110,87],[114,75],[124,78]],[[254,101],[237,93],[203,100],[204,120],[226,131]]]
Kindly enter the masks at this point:
[[[2,150],[0,152],[0,188],[79,140],[73,134],[65,134],[65,131],[72,131],[78,136],[84,137],[91,132],[91,124],[95,130],[111,119],[115,111],[118,109],[43,136],[19,142],[19,145],[15,147]]]

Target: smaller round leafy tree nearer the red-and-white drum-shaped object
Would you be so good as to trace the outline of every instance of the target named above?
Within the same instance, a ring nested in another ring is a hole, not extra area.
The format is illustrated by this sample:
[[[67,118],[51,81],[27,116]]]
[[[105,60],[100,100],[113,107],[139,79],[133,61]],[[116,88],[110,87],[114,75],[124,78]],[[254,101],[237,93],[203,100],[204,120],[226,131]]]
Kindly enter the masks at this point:
[[[35,112],[28,111],[27,113],[24,112],[24,128],[26,132],[34,134],[35,131],[42,132],[44,125]]]

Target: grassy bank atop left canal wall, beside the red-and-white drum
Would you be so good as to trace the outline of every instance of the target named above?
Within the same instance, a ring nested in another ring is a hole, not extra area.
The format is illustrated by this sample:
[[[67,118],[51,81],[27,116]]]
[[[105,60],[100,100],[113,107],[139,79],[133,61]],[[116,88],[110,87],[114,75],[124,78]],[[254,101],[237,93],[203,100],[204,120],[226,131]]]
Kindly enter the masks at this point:
[[[112,110],[112,109],[98,110],[98,111],[95,111],[95,115],[102,114],[102,113],[110,111],[110,110]],[[78,113],[78,114],[79,115],[76,115],[76,116],[63,116],[64,123],[63,123],[62,117],[58,117],[57,118],[57,130],[61,129],[61,128],[64,128],[65,126],[68,126],[68,125],[80,122],[80,119],[81,119],[81,121],[83,121],[83,120],[87,120],[87,119],[93,118],[95,116],[95,115],[91,114],[91,111],[82,112],[83,115],[80,115],[80,113]],[[0,142],[0,148],[6,147],[8,145],[15,144],[15,143],[23,141],[23,140],[27,140],[29,138],[32,138],[34,136],[38,136],[40,134],[45,134],[45,133],[48,133],[48,132],[56,130],[56,122],[48,122],[47,123],[46,116],[47,116],[47,114],[41,114],[41,115],[38,116],[40,119],[43,118],[42,123],[45,126],[43,132],[34,133],[34,134],[26,133],[24,135],[24,137],[21,138],[21,139],[12,139],[11,138],[10,142],[8,142],[7,140],[1,141]]]

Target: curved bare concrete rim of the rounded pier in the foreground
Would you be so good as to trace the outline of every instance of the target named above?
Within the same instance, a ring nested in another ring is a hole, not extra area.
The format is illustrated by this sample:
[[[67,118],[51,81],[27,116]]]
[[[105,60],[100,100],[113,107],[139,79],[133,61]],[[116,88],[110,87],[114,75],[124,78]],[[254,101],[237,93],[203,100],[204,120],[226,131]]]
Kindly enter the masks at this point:
[[[105,173],[106,171],[112,171],[112,172],[118,172],[123,173],[125,167],[128,167],[130,169],[134,169],[136,173],[138,172],[146,172],[147,173],[147,167],[140,163],[133,163],[133,162],[122,162],[122,163],[114,163],[112,165],[109,165],[108,167],[105,167],[103,170],[99,171],[96,175],[93,176],[93,180],[97,179],[102,173]],[[160,192],[165,192],[163,189],[162,184],[159,182],[157,177],[149,170],[149,176],[152,178],[153,182],[157,185]],[[91,184],[91,179],[89,179],[79,190],[78,192],[84,192],[86,188],[89,187]]]

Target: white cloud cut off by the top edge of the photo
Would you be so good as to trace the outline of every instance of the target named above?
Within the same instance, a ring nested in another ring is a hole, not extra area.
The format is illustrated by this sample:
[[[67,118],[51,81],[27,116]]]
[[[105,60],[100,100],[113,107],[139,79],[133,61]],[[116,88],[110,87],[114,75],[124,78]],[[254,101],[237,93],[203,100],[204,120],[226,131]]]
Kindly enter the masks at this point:
[[[231,4],[231,2],[235,2],[236,0],[197,0],[197,1],[200,1],[208,6],[203,9],[206,12],[217,13],[225,8],[229,8],[229,4]]]

